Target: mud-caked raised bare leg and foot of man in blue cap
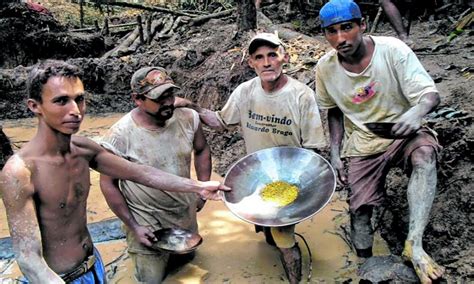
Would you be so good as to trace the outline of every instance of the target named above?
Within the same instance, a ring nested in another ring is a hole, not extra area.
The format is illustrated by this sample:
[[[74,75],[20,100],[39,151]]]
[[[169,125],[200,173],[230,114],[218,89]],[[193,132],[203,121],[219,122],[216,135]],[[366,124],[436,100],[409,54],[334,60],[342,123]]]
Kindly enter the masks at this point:
[[[410,224],[403,257],[413,263],[421,283],[431,283],[444,273],[423,250],[422,237],[436,192],[436,155],[431,147],[420,147],[411,155],[413,171],[408,183]]]

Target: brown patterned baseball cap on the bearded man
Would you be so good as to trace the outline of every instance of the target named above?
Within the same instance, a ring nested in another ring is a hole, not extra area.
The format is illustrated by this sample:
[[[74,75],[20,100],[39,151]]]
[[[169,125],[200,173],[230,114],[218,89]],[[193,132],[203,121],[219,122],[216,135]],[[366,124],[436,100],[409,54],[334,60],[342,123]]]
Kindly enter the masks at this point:
[[[130,86],[133,93],[150,99],[159,98],[170,88],[179,89],[166,70],[161,67],[144,67],[137,70],[132,76]]]

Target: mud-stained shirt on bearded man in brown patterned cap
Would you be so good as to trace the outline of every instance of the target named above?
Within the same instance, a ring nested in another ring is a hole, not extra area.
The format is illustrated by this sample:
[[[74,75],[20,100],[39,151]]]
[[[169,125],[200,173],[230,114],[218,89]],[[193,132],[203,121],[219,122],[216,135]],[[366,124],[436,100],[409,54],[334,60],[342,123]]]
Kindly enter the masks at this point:
[[[101,145],[129,161],[189,178],[198,125],[198,114],[186,108],[176,109],[166,125],[158,130],[139,126],[128,113],[111,127]],[[153,231],[171,227],[197,231],[197,194],[160,191],[123,180],[119,185],[131,214],[140,225]],[[130,252],[157,253],[141,245],[129,231],[127,241]]]

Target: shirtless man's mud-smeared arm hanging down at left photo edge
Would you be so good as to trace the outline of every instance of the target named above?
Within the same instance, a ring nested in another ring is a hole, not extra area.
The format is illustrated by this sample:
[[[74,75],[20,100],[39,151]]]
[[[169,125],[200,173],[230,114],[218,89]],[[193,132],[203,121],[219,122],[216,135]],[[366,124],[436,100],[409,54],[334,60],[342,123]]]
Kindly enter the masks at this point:
[[[10,158],[0,175],[0,191],[7,212],[13,250],[21,271],[30,282],[64,283],[43,257],[31,175],[18,155]]]

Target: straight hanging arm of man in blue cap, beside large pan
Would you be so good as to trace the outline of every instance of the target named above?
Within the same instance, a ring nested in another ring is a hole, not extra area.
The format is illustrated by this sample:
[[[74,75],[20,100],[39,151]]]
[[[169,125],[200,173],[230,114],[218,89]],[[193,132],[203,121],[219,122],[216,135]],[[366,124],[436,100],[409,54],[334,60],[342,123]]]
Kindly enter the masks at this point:
[[[344,171],[344,165],[341,160],[341,145],[344,136],[344,114],[339,108],[328,110],[329,137],[331,140],[331,164],[336,170],[338,176],[337,182],[344,185],[347,182],[347,176]]]

